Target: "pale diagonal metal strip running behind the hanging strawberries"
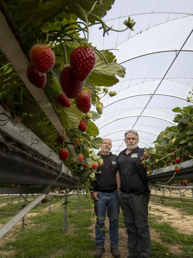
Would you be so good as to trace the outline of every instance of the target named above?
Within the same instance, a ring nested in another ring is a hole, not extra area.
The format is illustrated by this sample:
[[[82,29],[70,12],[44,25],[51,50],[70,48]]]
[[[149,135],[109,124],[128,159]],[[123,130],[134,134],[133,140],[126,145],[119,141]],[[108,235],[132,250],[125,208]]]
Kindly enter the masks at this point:
[[[1,9],[3,9],[2,4],[0,7]],[[7,10],[3,10],[3,11],[6,12]],[[6,18],[8,17],[7,13],[6,13]],[[52,104],[50,103],[44,90],[34,87],[34,85],[32,85],[29,82],[26,76],[27,64],[29,63],[28,57],[24,53],[24,50],[23,50],[24,47],[22,49],[22,46],[21,46],[22,43],[19,42],[18,35],[15,35],[16,32],[14,33],[13,30],[10,28],[10,25],[14,27],[12,24],[10,24],[11,18],[8,17],[9,23],[6,18],[2,10],[0,10],[0,24],[1,24],[0,33],[2,35],[0,37],[0,49],[4,53],[7,60],[10,62],[15,72],[20,77],[20,79],[26,85],[31,95],[34,97],[34,99],[37,101],[39,106],[45,112],[45,115],[51,121],[51,123],[56,128],[58,133],[62,134],[64,127],[61,123],[59,115],[57,114],[56,110],[53,108]],[[72,143],[72,140],[67,132],[65,134],[65,137],[66,137],[66,142]],[[77,156],[77,150],[74,144],[68,144],[68,147],[72,152],[73,156],[75,157],[76,161],[79,162],[78,156]]]

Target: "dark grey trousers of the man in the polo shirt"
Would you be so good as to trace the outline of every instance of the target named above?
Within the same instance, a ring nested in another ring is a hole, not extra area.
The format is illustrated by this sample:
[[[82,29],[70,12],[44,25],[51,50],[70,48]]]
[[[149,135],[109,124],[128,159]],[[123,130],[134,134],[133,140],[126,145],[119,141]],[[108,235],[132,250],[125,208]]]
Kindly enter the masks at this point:
[[[127,228],[129,257],[147,258],[151,250],[148,226],[149,193],[136,194],[118,191],[118,198]]]

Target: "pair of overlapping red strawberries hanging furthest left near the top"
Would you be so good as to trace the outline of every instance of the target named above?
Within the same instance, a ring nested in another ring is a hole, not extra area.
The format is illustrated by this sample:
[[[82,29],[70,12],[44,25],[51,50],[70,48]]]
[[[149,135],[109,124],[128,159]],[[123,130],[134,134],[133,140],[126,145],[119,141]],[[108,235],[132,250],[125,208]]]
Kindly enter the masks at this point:
[[[34,86],[42,89],[45,87],[46,73],[55,64],[55,54],[50,47],[36,44],[30,50],[30,59],[32,65],[27,68],[27,78]]]

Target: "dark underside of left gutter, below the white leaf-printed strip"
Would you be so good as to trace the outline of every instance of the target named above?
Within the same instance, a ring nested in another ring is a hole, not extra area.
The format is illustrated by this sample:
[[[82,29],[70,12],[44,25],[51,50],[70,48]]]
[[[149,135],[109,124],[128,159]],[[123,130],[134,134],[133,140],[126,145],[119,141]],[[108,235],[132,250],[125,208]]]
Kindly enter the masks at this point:
[[[0,183],[23,184],[26,186],[55,186],[63,188],[77,188],[77,179],[67,175],[65,171],[60,175],[60,170],[52,167],[40,159],[34,160],[27,157],[22,150],[9,151],[8,148],[0,148]],[[58,164],[56,163],[58,166]],[[67,171],[66,171],[67,172]],[[52,182],[54,182],[52,184]]]

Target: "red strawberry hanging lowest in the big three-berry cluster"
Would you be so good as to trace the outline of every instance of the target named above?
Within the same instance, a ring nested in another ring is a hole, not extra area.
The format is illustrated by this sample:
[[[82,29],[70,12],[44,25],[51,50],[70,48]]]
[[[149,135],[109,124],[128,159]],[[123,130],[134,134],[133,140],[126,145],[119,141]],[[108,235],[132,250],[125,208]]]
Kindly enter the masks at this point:
[[[75,103],[81,112],[88,113],[91,108],[91,93],[88,90],[82,89],[76,96]]]

